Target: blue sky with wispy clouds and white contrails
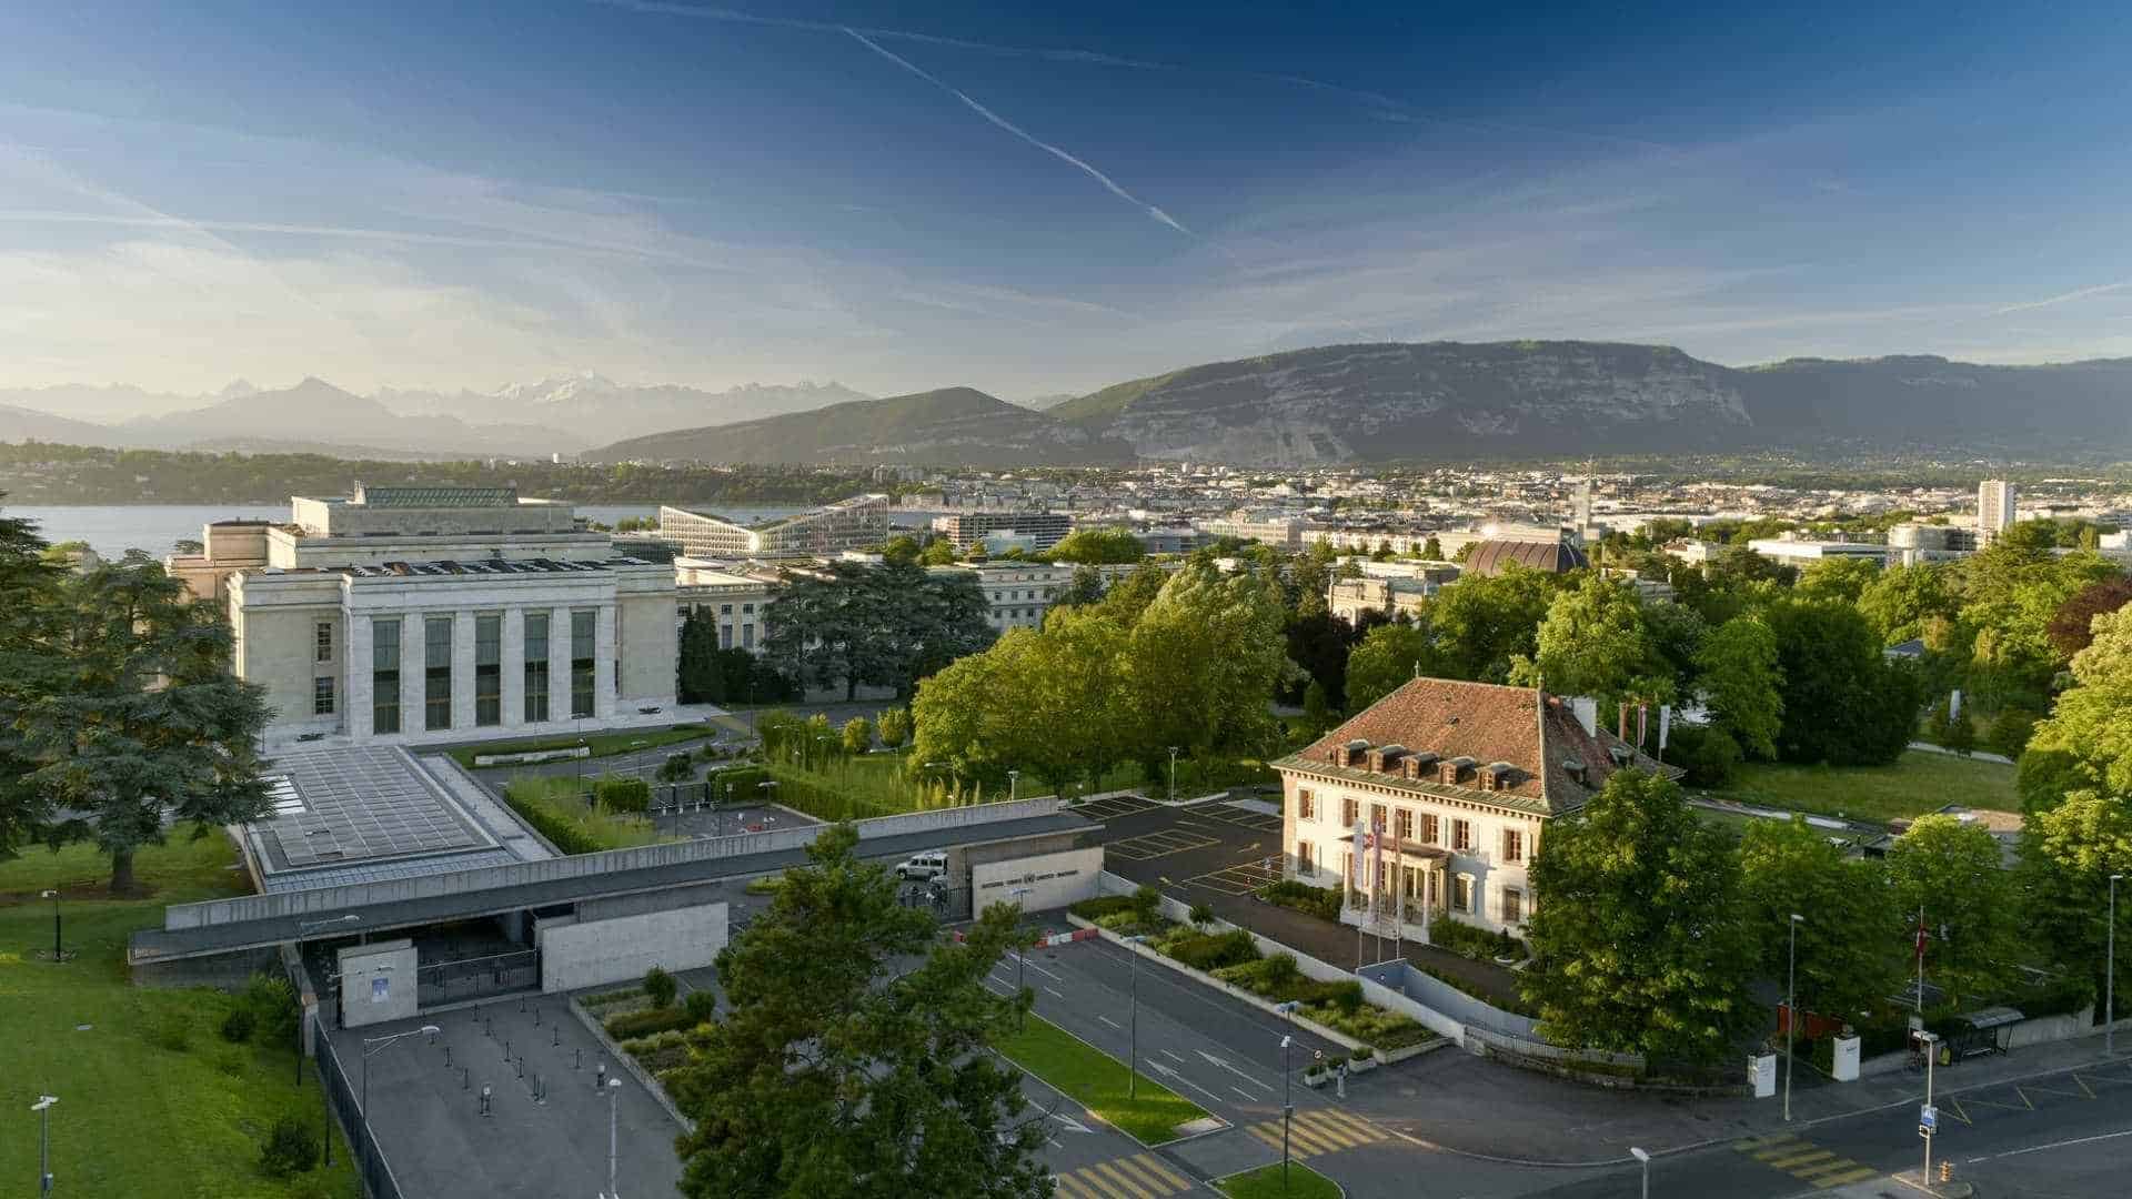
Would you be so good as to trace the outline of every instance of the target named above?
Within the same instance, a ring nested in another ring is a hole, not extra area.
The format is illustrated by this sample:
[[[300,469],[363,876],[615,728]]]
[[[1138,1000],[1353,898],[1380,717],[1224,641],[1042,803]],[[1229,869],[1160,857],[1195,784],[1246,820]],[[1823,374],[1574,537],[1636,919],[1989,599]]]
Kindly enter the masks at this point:
[[[2132,6],[0,6],[0,386],[2132,356]]]

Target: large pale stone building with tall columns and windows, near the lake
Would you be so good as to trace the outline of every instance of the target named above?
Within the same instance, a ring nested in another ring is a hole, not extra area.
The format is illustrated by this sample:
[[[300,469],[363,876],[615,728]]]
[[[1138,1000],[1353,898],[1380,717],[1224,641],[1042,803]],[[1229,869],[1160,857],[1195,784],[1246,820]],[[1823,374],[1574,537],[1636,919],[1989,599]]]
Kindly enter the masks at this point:
[[[286,525],[209,525],[177,561],[220,595],[269,745],[550,732],[674,706],[674,567],[616,557],[510,489],[356,489]],[[228,557],[217,557],[228,555]]]

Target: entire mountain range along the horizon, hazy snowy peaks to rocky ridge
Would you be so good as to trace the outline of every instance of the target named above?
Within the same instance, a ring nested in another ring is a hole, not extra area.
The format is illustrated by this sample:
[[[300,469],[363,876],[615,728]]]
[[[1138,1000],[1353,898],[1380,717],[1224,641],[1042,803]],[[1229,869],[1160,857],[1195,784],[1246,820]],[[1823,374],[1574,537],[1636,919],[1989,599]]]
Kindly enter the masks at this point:
[[[842,384],[723,393],[567,375],[495,393],[320,380],[158,416],[134,388],[0,390],[0,439],[311,448],[424,457],[578,452],[586,461],[1237,465],[1590,452],[1938,448],[2132,454],[2132,358],[2000,367],[1936,356],[1725,367],[1605,341],[1322,346],[1185,367],[1062,399],[951,386],[870,399]],[[79,407],[66,403],[79,401]],[[92,420],[85,412],[104,414]],[[599,446],[586,450],[586,446]]]

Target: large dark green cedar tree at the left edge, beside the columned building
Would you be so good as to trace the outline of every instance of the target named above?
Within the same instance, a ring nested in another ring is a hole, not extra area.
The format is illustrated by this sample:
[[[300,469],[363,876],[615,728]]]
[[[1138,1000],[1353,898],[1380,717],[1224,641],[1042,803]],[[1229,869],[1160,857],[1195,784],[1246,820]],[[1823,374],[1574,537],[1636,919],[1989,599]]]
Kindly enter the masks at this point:
[[[124,894],[166,815],[198,832],[264,815],[269,713],[228,668],[222,612],[147,555],[68,570],[0,516],[0,858],[94,843]]]

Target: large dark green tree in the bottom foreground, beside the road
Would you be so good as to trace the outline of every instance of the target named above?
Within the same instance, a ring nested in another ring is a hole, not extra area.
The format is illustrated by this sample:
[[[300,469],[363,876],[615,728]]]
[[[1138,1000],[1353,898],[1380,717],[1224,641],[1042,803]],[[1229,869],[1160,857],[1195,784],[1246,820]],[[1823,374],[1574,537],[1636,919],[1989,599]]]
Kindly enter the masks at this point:
[[[1015,937],[994,905],[959,941],[895,900],[834,826],[718,952],[729,1009],[672,1075],[693,1199],[1051,1193],[1045,1118],[985,1052],[1025,996],[985,975]],[[915,962],[915,964],[910,964]]]

